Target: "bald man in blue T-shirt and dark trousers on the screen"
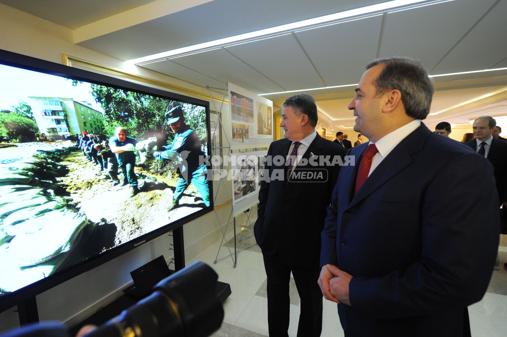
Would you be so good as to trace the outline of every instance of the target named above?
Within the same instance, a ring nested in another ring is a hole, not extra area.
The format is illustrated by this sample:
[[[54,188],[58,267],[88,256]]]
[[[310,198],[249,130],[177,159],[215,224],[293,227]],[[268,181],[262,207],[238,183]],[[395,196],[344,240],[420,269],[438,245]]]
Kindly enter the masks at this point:
[[[116,136],[109,139],[109,147],[111,147],[111,151],[116,154],[118,165],[122,170],[122,186],[126,186],[129,183],[130,186],[132,186],[132,192],[130,193],[130,198],[132,198],[139,193],[139,189],[137,188],[137,176],[134,172],[134,149],[138,141],[135,138],[127,137],[127,132],[121,126],[116,128],[115,134]]]

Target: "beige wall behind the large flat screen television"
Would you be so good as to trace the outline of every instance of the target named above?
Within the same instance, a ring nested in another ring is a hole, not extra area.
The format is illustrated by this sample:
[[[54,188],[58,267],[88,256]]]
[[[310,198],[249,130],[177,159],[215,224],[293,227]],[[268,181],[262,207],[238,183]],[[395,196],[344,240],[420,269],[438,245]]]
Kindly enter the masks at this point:
[[[1,4],[0,32],[0,49],[60,64],[64,53],[207,93],[204,88],[137,66],[127,67],[119,59],[76,46],[72,43],[71,30]],[[218,183],[214,186],[216,189]],[[227,200],[223,188],[219,202],[221,200]],[[227,221],[229,212],[230,206],[222,207],[218,211],[221,221]],[[187,261],[222,236],[214,212],[186,224],[184,234]],[[63,321],[69,326],[78,323],[101,306],[122,295],[122,289],[131,282],[130,271],[162,254],[169,260],[172,256],[172,251],[169,251],[170,243],[171,238],[164,235],[38,295],[40,319]],[[14,309],[0,314],[0,332],[18,325]]]

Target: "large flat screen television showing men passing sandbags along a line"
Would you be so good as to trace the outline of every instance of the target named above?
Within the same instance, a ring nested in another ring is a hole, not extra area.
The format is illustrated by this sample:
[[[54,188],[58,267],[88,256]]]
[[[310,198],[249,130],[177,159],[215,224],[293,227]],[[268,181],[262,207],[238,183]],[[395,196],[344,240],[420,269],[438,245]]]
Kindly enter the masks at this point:
[[[0,312],[213,210],[207,101],[0,50],[0,110]]]

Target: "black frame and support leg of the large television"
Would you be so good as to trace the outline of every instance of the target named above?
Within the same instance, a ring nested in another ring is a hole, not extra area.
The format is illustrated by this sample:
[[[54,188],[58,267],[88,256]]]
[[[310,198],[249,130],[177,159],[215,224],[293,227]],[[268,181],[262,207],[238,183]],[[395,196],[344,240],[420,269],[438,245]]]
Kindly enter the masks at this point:
[[[202,105],[206,108],[206,131],[207,131],[207,149],[208,154],[211,153],[211,135],[210,135],[210,118],[209,118],[209,102],[189,96],[184,96],[181,94],[176,94],[173,92],[152,88],[144,85],[140,85],[137,83],[133,83],[126,80],[117,79],[110,76],[105,76],[103,74],[82,70],[78,68],[69,67],[63,64],[34,58],[31,56],[26,56],[18,53],[9,52],[6,50],[0,49],[0,64],[23,68],[27,70],[32,71],[38,71],[43,72],[47,74],[51,74],[54,76],[69,78],[73,80],[78,81],[84,81],[84,82],[91,82],[96,83],[99,85],[104,85],[108,87],[113,87],[117,89],[122,90],[129,90],[129,91],[137,91],[142,94],[147,94],[151,96],[159,96],[164,99],[173,99],[179,102],[184,103],[190,103],[195,105]],[[208,170],[210,170],[211,167],[208,166]],[[187,215],[184,218],[178,219],[174,222],[167,223],[165,226],[160,227],[157,230],[154,230],[150,233],[144,234],[140,236],[138,239],[131,240],[129,242],[126,242],[124,244],[121,244],[120,246],[117,246],[115,248],[112,248],[111,250],[108,250],[107,252],[104,252],[100,255],[96,255],[94,257],[91,257],[85,261],[82,261],[81,263],[69,267],[67,269],[64,269],[62,271],[56,272],[53,275],[50,275],[44,279],[41,279],[37,282],[34,282],[30,285],[27,285],[21,289],[18,289],[16,291],[13,291],[11,293],[8,293],[6,295],[2,295],[0,297],[0,313],[4,312],[5,310],[8,310],[12,307],[18,306],[18,309],[20,311],[25,311],[25,305],[28,307],[33,307],[35,304],[35,296],[49,290],[65,281],[70,280],[71,278],[74,278],[78,275],[81,275],[89,270],[92,270],[95,267],[98,267],[107,261],[110,261],[114,259],[117,256],[120,256],[137,246],[141,246],[144,243],[148,243],[170,231],[174,231],[175,234],[173,237],[173,240],[176,242],[174,243],[175,248],[175,257],[178,253],[177,258],[177,264],[176,264],[176,270],[181,269],[184,267],[185,258],[184,255],[184,247],[183,247],[183,225],[195,220],[198,217],[201,217],[204,214],[207,214],[211,212],[214,209],[213,205],[213,184],[212,180],[208,180],[209,184],[209,198],[210,198],[210,205],[197,211],[196,213],[192,213],[190,215]],[[177,234],[177,235],[176,235]],[[177,246],[177,247],[176,247]],[[176,249],[177,248],[177,249]],[[180,250],[180,252],[178,252]],[[183,260],[182,260],[183,257]],[[37,308],[28,308],[26,310],[33,311],[35,310],[35,316],[37,316]],[[25,315],[26,316],[26,315]],[[28,314],[28,317],[30,317],[30,314]],[[21,320],[20,316],[20,320]],[[24,319],[23,319],[24,320]],[[34,319],[28,318],[28,321],[33,321]],[[24,323],[24,322],[21,322]]]

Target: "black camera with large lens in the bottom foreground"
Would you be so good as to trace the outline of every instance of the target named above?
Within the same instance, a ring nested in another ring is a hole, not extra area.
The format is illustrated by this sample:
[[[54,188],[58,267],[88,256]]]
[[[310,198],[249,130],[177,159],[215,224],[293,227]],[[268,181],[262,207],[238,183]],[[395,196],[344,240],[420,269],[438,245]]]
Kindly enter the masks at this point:
[[[202,262],[160,281],[152,294],[86,337],[207,337],[218,330],[224,308],[215,294],[218,275]],[[69,337],[58,322],[22,326],[0,337]]]

